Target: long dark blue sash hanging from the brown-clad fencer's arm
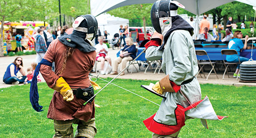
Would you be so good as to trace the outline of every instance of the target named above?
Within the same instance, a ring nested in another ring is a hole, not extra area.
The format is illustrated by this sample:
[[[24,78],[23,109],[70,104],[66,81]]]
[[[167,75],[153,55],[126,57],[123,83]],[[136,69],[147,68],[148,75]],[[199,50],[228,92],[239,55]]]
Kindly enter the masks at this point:
[[[44,110],[41,110],[43,108],[43,106],[39,105],[39,103],[38,103],[39,95],[38,95],[38,91],[37,91],[37,75],[39,74],[41,64],[48,65],[51,67],[53,65],[53,63],[51,63],[43,58],[42,61],[38,63],[38,65],[35,69],[34,76],[33,76],[33,79],[32,79],[31,85],[30,85],[30,92],[29,92],[30,103],[32,104],[32,107],[38,112],[44,111]]]

